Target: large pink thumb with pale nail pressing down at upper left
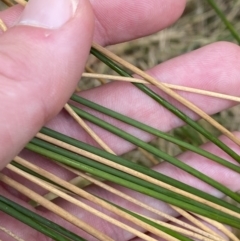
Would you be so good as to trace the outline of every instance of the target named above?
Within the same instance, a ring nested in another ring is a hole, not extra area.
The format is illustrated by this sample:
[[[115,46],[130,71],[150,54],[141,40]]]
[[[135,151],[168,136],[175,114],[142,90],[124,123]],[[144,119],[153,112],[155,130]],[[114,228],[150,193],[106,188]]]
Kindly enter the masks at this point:
[[[93,22],[87,0],[30,0],[0,36],[0,169],[74,91]]]

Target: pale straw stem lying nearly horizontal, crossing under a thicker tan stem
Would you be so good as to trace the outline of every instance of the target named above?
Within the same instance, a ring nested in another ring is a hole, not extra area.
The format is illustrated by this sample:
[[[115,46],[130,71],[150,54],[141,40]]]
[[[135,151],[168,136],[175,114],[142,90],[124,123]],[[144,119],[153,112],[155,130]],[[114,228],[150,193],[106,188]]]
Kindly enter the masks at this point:
[[[137,78],[132,78],[132,77],[123,77],[123,76],[115,76],[115,75],[105,75],[105,74],[91,74],[91,73],[83,73],[82,77],[86,78],[99,78],[103,77],[109,80],[118,80],[118,81],[126,81],[126,82],[132,82],[132,83],[141,83],[141,84],[150,84],[146,80],[143,79],[137,79]],[[201,94],[201,95],[206,95],[206,96],[211,96],[211,97],[216,97],[219,99],[225,99],[225,100],[232,100],[236,102],[240,102],[240,98],[237,96],[232,96],[232,95],[225,95],[217,92],[212,92],[212,91],[207,91],[207,90],[201,90],[201,89],[196,89],[196,88],[190,88],[186,86],[180,86],[180,85],[173,85],[173,84],[167,84],[167,83],[162,83],[168,88],[174,89],[174,90],[181,90],[184,92],[191,92],[194,94]]]

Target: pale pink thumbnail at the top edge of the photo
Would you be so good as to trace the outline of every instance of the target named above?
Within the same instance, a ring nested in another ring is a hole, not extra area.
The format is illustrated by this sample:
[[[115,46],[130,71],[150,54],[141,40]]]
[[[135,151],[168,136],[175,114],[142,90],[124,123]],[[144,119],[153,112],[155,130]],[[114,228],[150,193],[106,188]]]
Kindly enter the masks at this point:
[[[79,0],[30,0],[18,24],[57,29],[76,12]]]

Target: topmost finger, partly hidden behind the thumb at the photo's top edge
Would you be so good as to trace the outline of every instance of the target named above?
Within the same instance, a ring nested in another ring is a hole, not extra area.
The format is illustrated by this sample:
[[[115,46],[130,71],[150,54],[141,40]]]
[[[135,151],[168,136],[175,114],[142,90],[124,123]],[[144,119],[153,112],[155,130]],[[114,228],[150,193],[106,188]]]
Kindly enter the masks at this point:
[[[155,33],[175,22],[186,0],[91,1],[95,14],[94,40],[102,45],[116,44]],[[0,14],[11,26],[19,17],[21,6]]]

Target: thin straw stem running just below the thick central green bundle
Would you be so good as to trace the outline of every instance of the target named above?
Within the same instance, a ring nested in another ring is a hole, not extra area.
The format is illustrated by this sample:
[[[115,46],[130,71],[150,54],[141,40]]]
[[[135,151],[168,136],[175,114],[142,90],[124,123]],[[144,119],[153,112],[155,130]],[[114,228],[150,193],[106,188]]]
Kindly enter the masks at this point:
[[[151,212],[153,212],[153,213],[155,213],[155,214],[157,214],[157,215],[159,215],[159,216],[167,219],[168,221],[171,221],[171,222],[173,222],[173,223],[176,223],[176,224],[178,224],[178,225],[180,225],[180,226],[182,226],[182,227],[184,227],[184,228],[186,228],[186,229],[192,230],[192,231],[195,232],[195,233],[199,233],[199,234],[201,234],[202,236],[211,238],[211,239],[213,239],[213,240],[219,240],[218,237],[216,237],[216,236],[214,236],[214,235],[212,235],[212,234],[209,234],[208,232],[202,231],[201,229],[196,228],[196,227],[194,227],[194,226],[192,226],[192,225],[190,225],[190,224],[188,224],[188,223],[186,223],[186,222],[183,222],[183,221],[181,221],[181,220],[179,220],[179,219],[177,219],[177,218],[174,218],[174,217],[172,217],[172,216],[170,216],[170,215],[168,215],[168,214],[166,214],[166,213],[163,213],[163,212],[161,212],[161,211],[158,210],[158,209],[152,208],[151,206],[148,206],[148,205],[146,205],[146,204],[138,201],[137,199],[134,199],[134,198],[132,198],[132,197],[124,194],[123,192],[120,192],[120,191],[118,191],[117,189],[115,189],[115,188],[113,188],[113,187],[111,187],[111,186],[109,186],[109,185],[107,185],[107,184],[105,184],[105,183],[102,183],[102,182],[96,180],[96,179],[93,178],[93,177],[90,177],[90,176],[84,174],[84,173],[81,172],[81,171],[75,170],[75,169],[73,169],[73,168],[71,168],[71,167],[68,167],[68,166],[65,166],[65,165],[62,165],[62,164],[60,164],[60,166],[66,168],[67,170],[75,173],[76,175],[79,175],[79,176],[87,179],[88,181],[94,183],[95,185],[97,185],[97,186],[99,186],[99,187],[101,187],[101,188],[103,188],[103,189],[105,189],[105,190],[107,190],[107,191],[109,191],[109,192],[111,192],[111,193],[113,193],[113,194],[115,194],[115,195],[117,195],[117,196],[119,196],[119,197],[121,197],[121,198],[129,201],[129,202],[134,203],[134,204],[137,205],[137,206],[140,206],[140,207],[142,207],[142,208],[145,208],[145,209],[147,209],[147,210],[149,210],[149,211],[151,211]]]

